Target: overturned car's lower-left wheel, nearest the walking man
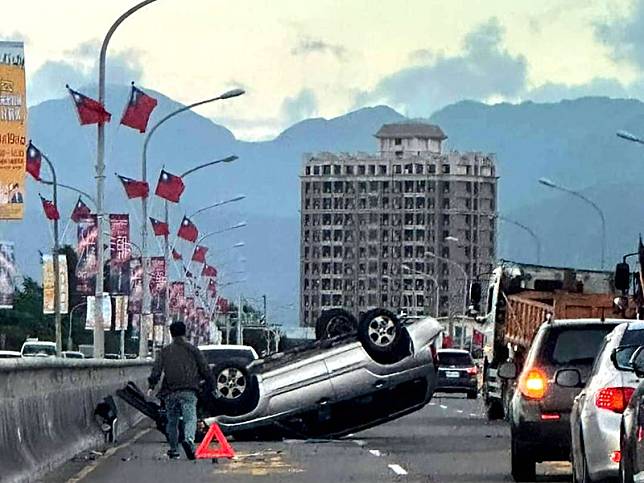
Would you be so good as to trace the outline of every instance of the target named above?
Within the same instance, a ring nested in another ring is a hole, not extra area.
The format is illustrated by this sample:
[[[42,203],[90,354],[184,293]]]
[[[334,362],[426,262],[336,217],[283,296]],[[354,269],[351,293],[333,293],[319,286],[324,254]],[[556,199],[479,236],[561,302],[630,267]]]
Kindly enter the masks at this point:
[[[244,359],[230,359],[212,368],[216,411],[228,416],[245,414],[259,399],[257,381],[250,375]]]

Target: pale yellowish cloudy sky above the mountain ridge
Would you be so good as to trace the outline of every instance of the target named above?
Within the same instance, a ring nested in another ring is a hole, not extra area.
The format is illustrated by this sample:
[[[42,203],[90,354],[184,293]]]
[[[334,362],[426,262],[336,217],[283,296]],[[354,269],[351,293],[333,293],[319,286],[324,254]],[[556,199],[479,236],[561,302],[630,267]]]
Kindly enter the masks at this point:
[[[132,0],[21,0],[0,39],[24,40],[30,105],[96,95],[97,58]],[[157,0],[108,50],[108,83],[136,81],[237,138],[386,104],[428,117],[464,99],[644,96],[644,0]]]

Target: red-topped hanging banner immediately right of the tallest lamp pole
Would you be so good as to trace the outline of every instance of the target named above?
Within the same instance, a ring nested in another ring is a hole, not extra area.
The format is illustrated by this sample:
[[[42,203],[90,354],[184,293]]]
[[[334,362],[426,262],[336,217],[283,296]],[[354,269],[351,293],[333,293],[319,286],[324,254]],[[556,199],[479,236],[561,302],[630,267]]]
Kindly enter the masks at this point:
[[[130,293],[130,218],[110,215],[110,293]]]

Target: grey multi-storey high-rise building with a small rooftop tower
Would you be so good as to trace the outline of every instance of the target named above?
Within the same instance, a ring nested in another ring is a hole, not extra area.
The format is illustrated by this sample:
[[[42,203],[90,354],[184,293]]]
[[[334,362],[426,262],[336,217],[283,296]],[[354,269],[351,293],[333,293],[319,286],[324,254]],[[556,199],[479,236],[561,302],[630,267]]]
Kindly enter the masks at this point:
[[[377,155],[306,154],[300,317],[375,307],[462,314],[468,281],[493,267],[495,160],[442,152],[431,124],[385,124]]]

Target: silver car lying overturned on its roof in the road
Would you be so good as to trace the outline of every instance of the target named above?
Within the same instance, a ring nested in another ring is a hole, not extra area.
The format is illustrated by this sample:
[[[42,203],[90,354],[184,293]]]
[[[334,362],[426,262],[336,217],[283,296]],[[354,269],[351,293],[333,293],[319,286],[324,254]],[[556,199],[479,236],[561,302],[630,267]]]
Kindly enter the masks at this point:
[[[375,309],[358,324],[335,309],[324,322],[333,330],[343,326],[344,334],[249,365],[214,367],[214,398],[203,404],[211,414],[206,422],[238,438],[339,437],[429,402],[437,378],[434,342],[442,330],[435,319],[399,319]]]

